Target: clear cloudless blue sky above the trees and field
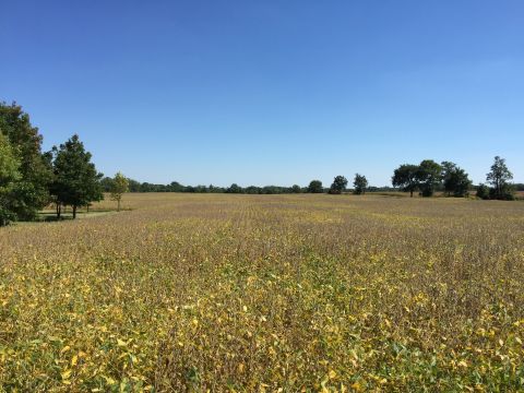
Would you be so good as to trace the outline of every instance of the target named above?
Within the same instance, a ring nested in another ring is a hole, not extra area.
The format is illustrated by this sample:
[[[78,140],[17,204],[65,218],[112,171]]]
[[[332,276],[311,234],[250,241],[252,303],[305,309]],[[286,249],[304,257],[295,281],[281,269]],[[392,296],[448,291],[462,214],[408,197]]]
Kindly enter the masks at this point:
[[[524,182],[522,0],[0,0],[0,99],[108,176],[306,186],[495,155]]]

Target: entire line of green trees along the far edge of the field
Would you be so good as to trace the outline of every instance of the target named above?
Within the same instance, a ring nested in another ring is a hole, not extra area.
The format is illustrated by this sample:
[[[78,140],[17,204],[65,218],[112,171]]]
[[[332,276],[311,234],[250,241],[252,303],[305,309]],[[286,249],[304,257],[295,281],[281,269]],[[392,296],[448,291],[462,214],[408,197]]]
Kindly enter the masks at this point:
[[[524,190],[524,184],[512,184],[512,172],[505,160],[499,156],[487,174],[486,183],[472,184],[464,169],[451,162],[436,163],[425,159],[418,165],[403,164],[392,177],[393,188],[370,187],[361,174],[356,174],[353,188],[347,189],[348,180],[340,175],[330,187],[324,188],[320,180],[311,180],[307,187],[265,186],[229,187],[182,186],[177,181],[169,184],[154,184],[127,179],[122,174],[115,178],[104,177],[92,163],[92,155],[80,141],[72,135],[68,141],[53,146],[49,152],[41,151],[43,136],[29,121],[22,107],[0,103],[0,226],[11,221],[31,221],[45,206],[52,203],[57,217],[62,209],[71,206],[73,218],[81,206],[104,199],[109,192],[117,201],[118,210],[122,194],[131,192],[207,192],[207,193],[331,193],[353,192],[364,194],[367,191],[406,191],[413,196],[431,196],[443,191],[450,196],[467,196],[471,191],[481,199],[512,200],[515,190]]]

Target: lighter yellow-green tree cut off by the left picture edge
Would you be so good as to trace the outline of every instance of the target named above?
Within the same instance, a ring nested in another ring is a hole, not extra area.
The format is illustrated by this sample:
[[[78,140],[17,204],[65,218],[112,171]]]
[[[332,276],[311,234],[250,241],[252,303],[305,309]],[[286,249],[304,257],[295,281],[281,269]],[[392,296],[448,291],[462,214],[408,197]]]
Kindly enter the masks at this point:
[[[12,211],[12,190],[20,180],[20,162],[8,139],[0,132],[0,226],[16,218]]]

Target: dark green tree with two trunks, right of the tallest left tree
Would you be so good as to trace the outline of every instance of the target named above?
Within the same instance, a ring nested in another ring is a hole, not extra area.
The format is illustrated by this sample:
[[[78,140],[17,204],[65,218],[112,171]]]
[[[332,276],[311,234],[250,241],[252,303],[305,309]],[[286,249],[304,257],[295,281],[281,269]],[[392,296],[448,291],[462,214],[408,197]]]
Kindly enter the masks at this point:
[[[76,209],[85,206],[90,202],[104,199],[99,174],[95,165],[91,163],[92,155],[86,152],[79,135],[73,135],[66,143],[52,147],[55,154],[53,170],[55,180],[51,187],[57,198],[58,206],[71,205],[73,219],[76,218]],[[60,218],[60,209],[57,209]]]

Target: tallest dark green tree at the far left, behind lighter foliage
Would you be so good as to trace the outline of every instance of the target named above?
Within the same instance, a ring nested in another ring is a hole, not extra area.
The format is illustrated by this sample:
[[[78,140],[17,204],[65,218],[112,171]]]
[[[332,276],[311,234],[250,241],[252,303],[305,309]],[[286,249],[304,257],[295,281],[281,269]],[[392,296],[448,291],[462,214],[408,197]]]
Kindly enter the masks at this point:
[[[21,219],[32,219],[49,202],[51,168],[41,154],[41,135],[29,116],[16,104],[0,103],[0,132],[14,148],[20,162],[21,179],[16,182],[11,206]]]

